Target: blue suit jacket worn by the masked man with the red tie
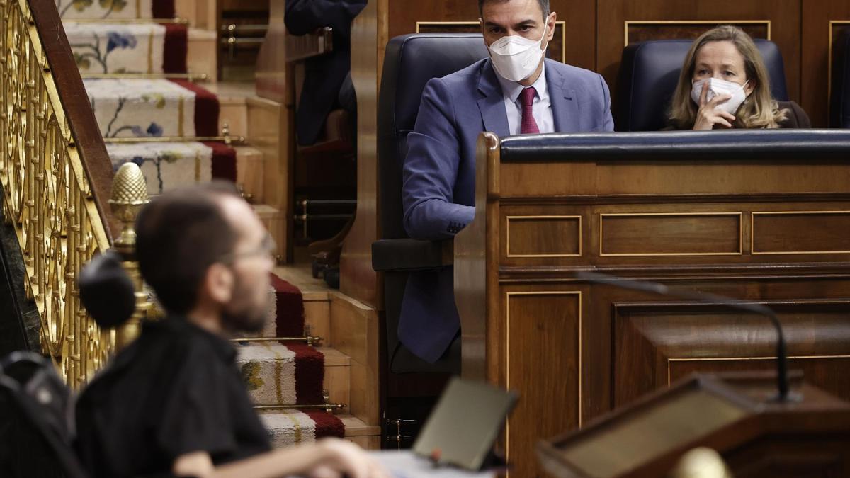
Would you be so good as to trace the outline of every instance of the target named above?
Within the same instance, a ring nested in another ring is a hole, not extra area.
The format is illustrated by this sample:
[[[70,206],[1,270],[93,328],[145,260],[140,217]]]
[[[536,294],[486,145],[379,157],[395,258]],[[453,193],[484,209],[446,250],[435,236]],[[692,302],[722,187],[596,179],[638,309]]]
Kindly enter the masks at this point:
[[[613,131],[604,79],[592,71],[545,61],[555,130]],[[416,127],[407,136],[402,200],[405,230],[412,238],[449,239],[472,221],[475,145],[482,131],[508,135],[501,86],[490,59],[428,82]],[[452,268],[411,272],[401,304],[401,342],[433,362],[459,329]]]

